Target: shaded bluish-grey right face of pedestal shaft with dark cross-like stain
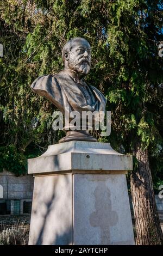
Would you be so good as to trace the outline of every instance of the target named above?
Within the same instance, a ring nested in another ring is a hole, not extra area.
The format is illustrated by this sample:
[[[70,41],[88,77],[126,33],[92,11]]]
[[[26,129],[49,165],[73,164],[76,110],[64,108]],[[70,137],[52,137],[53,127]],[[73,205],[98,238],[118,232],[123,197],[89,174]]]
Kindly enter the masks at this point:
[[[131,234],[126,176],[74,175],[74,244],[133,245]]]

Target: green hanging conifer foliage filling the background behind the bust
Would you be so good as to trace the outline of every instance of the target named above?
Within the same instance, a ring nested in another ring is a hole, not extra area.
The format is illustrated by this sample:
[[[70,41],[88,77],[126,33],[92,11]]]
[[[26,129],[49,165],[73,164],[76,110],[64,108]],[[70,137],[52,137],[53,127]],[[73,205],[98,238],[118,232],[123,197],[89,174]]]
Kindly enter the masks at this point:
[[[141,141],[153,177],[162,179],[162,150],[156,153],[163,132],[162,58],[156,46],[162,40],[161,14],[156,0],[1,1],[1,170],[24,173],[28,157],[58,142],[62,132],[52,130],[54,106],[35,95],[30,84],[39,75],[58,72],[62,46],[83,36],[92,46],[87,81],[105,94],[112,117],[111,136],[99,140],[109,139],[123,153],[133,153]]]

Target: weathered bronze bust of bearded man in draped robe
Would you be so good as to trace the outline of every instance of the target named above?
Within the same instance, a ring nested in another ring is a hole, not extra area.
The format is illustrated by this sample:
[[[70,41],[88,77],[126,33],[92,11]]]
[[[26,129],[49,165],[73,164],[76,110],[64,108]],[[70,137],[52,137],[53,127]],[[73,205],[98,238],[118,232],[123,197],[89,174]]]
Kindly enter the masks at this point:
[[[106,99],[96,87],[84,80],[91,67],[91,46],[84,38],[73,38],[62,49],[64,69],[55,75],[43,75],[33,82],[32,90],[51,101],[63,114],[65,107],[78,111],[105,111]],[[67,131],[59,143],[67,141],[93,141],[89,131]]]

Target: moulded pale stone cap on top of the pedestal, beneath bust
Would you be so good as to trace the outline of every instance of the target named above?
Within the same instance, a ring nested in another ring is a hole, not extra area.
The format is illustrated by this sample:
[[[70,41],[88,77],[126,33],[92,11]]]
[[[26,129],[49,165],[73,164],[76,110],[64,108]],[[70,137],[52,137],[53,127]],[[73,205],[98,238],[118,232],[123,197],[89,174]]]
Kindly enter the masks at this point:
[[[35,159],[28,160],[28,173],[82,172],[84,170],[126,171],[133,169],[132,156],[117,153],[110,143],[65,142],[51,145]]]

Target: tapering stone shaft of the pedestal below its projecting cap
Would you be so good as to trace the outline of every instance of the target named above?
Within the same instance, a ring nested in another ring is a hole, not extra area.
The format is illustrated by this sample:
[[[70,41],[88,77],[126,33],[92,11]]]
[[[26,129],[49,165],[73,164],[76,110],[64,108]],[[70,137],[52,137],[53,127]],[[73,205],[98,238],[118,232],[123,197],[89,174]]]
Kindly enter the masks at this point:
[[[134,245],[126,176],[36,177],[29,244]]]

